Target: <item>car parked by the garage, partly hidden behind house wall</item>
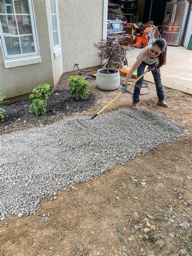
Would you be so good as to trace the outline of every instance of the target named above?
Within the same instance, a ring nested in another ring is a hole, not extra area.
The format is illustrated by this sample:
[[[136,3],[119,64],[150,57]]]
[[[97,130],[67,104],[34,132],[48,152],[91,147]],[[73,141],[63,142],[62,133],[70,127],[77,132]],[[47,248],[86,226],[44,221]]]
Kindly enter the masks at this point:
[[[107,15],[107,38],[109,33],[115,34],[127,34],[127,19],[122,13],[119,4],[108,4],[108,15]]]

